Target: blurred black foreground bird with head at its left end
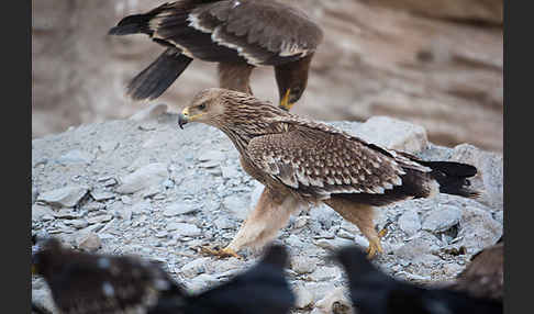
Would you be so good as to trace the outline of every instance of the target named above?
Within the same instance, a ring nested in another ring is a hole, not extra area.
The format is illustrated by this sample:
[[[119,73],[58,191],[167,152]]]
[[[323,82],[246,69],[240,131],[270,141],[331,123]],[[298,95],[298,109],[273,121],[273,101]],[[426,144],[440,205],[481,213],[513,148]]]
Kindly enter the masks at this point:
[[[359,314],[493,314],[502,302],[449,289],[423,288],[393,279],[377,269],[357,247],[335,258],[345,268],[353,305]]]

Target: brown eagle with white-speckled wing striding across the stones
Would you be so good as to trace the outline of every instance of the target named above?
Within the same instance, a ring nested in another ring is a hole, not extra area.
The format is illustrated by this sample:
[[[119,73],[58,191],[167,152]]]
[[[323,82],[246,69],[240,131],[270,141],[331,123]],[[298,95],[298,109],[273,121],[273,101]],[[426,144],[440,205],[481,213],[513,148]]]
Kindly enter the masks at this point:
[[[179,116],[180,127],[201,122],[224,132],[243,169],[265,186],[256,209],[221,255],[259,246],[286,225],[300,205],[323,202],[356,224],[369,240],[369,257],[382,251],[374,206],[437,192],[475,198],[470,165],[424,161],[388,150],[327,124],[291,114],[253,96],[205,89]]]

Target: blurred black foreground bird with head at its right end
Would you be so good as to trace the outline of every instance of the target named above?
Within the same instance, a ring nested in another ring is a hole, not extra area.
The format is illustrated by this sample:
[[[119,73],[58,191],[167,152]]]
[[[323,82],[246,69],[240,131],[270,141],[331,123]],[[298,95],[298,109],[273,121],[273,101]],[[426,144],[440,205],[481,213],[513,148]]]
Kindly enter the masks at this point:
[[[191,296],[188,313],[289,313],[294,304],[294,295],[283,272],[287,259],[283,247],[269,247],[264,258],[246,272]]]

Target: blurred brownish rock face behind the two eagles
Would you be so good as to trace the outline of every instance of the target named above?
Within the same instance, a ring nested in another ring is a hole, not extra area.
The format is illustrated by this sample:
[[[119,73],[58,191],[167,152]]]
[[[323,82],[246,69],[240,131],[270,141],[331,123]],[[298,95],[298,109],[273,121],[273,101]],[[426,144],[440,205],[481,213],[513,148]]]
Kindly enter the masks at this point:
[[[321,23],[325,40],[294,111],[321,120],[389,115],[426,128],[436,144],[502,150],[502,0],[288,0]],[[124,86],[163,51],[145,36],[109,37],[156,0],[32,1],[33,136],[126,117],[143,104]],[[194,61],[156,103],[171,111],[216,86]],[[277,101],[272,70],[253,90]]]

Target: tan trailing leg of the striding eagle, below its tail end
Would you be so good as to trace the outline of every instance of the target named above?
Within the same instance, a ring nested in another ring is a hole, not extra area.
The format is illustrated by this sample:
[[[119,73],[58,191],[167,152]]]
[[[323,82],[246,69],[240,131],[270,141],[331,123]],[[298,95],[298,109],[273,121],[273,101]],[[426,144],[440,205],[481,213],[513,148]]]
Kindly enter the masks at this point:
[[[369,247],[367,248],[368,258],[374,258],[375,255],[383,253],[380,238],[386,235],[387,229],[382,229],[380,233],[377,233],[375,229],[375,223],[372,222],[375,209],[372,206],[354,203],[336,197],[323,202],[331,206],[345,220],[355,224],[367,240],[369,240]]]

